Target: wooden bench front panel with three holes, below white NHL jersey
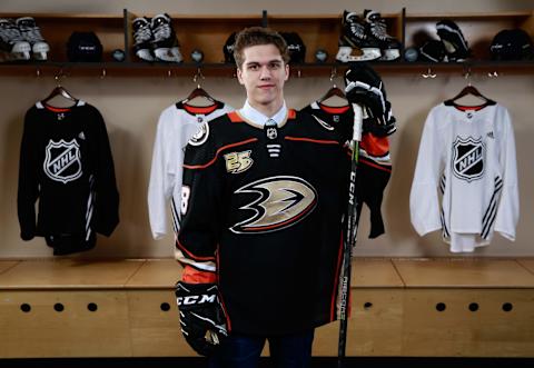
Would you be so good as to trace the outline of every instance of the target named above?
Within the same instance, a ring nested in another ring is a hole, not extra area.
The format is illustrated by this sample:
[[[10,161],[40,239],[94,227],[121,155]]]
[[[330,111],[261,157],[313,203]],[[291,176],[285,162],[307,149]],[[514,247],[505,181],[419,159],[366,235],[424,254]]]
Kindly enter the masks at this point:
[[[436,306],[444,304],[438,311]],[[475,305],[478,309],[475,309]],[[505,304],[512,310],[505,311]],[[413,289],[404,292],[403,356],[528,357],[534,295],[522,289]]]

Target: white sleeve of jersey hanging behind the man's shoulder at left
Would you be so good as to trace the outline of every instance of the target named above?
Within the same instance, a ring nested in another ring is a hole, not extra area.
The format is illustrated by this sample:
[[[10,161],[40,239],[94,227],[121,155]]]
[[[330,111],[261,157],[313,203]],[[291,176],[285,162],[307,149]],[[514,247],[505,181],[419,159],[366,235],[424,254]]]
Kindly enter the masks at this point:
[[[156,139],[152,149],[152,163],[150,168],[150,181],[148,185],[148,217],[154,239],[161,239],[167,233],[167,203],[172,196],[175,187],[171,125],[174,121],[167,111],[161,112],[158,120]]]

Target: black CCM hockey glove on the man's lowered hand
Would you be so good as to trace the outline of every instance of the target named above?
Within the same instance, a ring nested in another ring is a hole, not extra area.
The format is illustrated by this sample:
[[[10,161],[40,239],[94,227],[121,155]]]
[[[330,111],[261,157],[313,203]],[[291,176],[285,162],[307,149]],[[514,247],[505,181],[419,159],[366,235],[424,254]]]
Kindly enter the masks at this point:
[[[226,317],[215,284],[176,284],[181,332],[187,344],[201,356],[211,356],[226,331]]]

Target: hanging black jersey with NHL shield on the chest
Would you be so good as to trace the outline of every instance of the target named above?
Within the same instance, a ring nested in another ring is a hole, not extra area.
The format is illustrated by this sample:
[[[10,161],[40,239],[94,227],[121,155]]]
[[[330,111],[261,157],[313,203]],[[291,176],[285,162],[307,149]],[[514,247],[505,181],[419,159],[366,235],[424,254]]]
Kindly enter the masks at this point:
[[[39,199],[36,223],[36,201]],[[37,102],[26,113],[20,147],[20,236],[44,237],[55,255],[95,246],[119,221],[119,195],[108,133],[100,112]]]

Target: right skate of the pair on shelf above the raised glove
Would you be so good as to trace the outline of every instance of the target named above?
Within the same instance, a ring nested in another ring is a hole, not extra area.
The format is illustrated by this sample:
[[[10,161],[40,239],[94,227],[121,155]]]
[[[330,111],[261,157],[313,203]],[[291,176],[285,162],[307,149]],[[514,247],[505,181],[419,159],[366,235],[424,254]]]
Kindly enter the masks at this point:
[[[387,34],[386,21],[380,17],[380,13],[366,9],[364,19],[367,23],[368,38],[375,39],[380,48],[380,60],[390,61],[400,58],[402,44],[397,39]]]

